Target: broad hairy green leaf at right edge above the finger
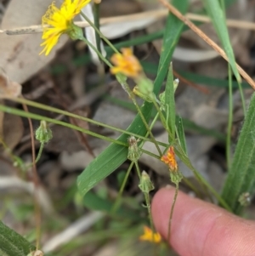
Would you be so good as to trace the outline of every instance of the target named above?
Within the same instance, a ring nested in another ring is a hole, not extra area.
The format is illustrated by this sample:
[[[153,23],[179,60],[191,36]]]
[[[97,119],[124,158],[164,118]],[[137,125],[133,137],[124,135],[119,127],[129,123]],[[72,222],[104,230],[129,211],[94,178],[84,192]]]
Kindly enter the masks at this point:
[[[236,214],[241,214],[244,207],[238,202],[242,193],[249,192],[254,196],[255,185],[255,94],[249,109],[246,113],[246,119],[241,128],[241,134],[235,148],[235,154],[229,169],[222,197],[229,207]]]

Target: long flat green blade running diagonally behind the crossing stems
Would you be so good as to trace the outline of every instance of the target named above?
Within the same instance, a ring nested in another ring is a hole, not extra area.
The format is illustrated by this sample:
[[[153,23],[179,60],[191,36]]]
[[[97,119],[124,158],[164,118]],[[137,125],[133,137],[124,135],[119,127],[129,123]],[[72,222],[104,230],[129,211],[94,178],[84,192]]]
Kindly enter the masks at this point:
[[[173,5],[178,8],[181,12],[186,12],[188,8],[188,1],[174,0]],[[184,27],[184,24],[178,20],[173,14],[169,14],[167,18],[167,28],[164,35],[164,43],[161,53],[161,60],[159,65],[159,70],[154,82],[154,92],[158,94],[161,88],[161,84],[164,81],[167,68],[171,57],[173,55],[173,49],[178,42],[178,37]],[[150,113],[152,110],[152,105],[145,103],[141,111],[144,114],[145,120],[148,122],[150,120]],[[117,117],[116,117],[117,118]],[[129,132],[133,134],[144,135],[146,129],[139,116],[136,116],[127,128]],[[127,135],[122,134],[118,140],[122,142],[127,142]],[[99,156],[97,156],[94,161],[90,162],[88,167],[79,175],[77,179],[78,191],[84,196],[90,189],[97,185],[100,180],[105,179],[113,171],[118,168],[122,162],[127,160],[127,147],[122,145],[111,144],[105,151],[103,151]]]

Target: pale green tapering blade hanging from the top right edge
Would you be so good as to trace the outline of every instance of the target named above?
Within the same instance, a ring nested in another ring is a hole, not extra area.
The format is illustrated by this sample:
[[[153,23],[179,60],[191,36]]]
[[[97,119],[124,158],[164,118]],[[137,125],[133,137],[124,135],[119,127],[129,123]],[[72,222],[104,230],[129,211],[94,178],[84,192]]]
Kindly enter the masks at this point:
[[[227,54],[227,56],[229,58],[229,64],[232,67],[232,70],[235,74],[236,80],[241,81],[240,74],[235,65],[235,55],[234,55],[233,48],[230,43],[229,31],[226,26],[224,11],[221,8],[218,0],[203,0],[203,2],[205,3],[207,13],[212,18],[212,23],[217,31],[218,37],[220,38],[220,41],[224,46],[225,53]]]

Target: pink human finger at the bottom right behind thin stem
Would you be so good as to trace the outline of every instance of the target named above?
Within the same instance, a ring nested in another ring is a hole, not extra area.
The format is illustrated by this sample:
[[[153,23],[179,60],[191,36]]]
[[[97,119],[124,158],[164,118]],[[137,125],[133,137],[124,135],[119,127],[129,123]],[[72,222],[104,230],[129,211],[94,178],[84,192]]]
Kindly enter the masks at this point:
[[[174,188],[168,186],[152,201],[156,230],[164,239],[173,195]],[[180,256],[254,256],[255,222],[178,191],[170,240]]]

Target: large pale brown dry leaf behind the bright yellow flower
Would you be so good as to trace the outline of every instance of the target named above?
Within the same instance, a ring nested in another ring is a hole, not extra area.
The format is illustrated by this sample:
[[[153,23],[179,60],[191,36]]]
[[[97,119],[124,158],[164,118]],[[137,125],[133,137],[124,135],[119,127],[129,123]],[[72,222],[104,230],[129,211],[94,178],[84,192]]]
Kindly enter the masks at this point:
[[[52,0],[11,0],[3,16],[2,29],[17,28],[41,24],[42,15],[45,14]],[[62,3],[56,1],[59,6]],[[42,51],[42,34],[8,36],[0,34],[0,66],[3,67],[11,80],[22,83],[33,76],[54,59],[58,48],[67,41],[61,37],[59,43],[47,57],[39,55]]]

